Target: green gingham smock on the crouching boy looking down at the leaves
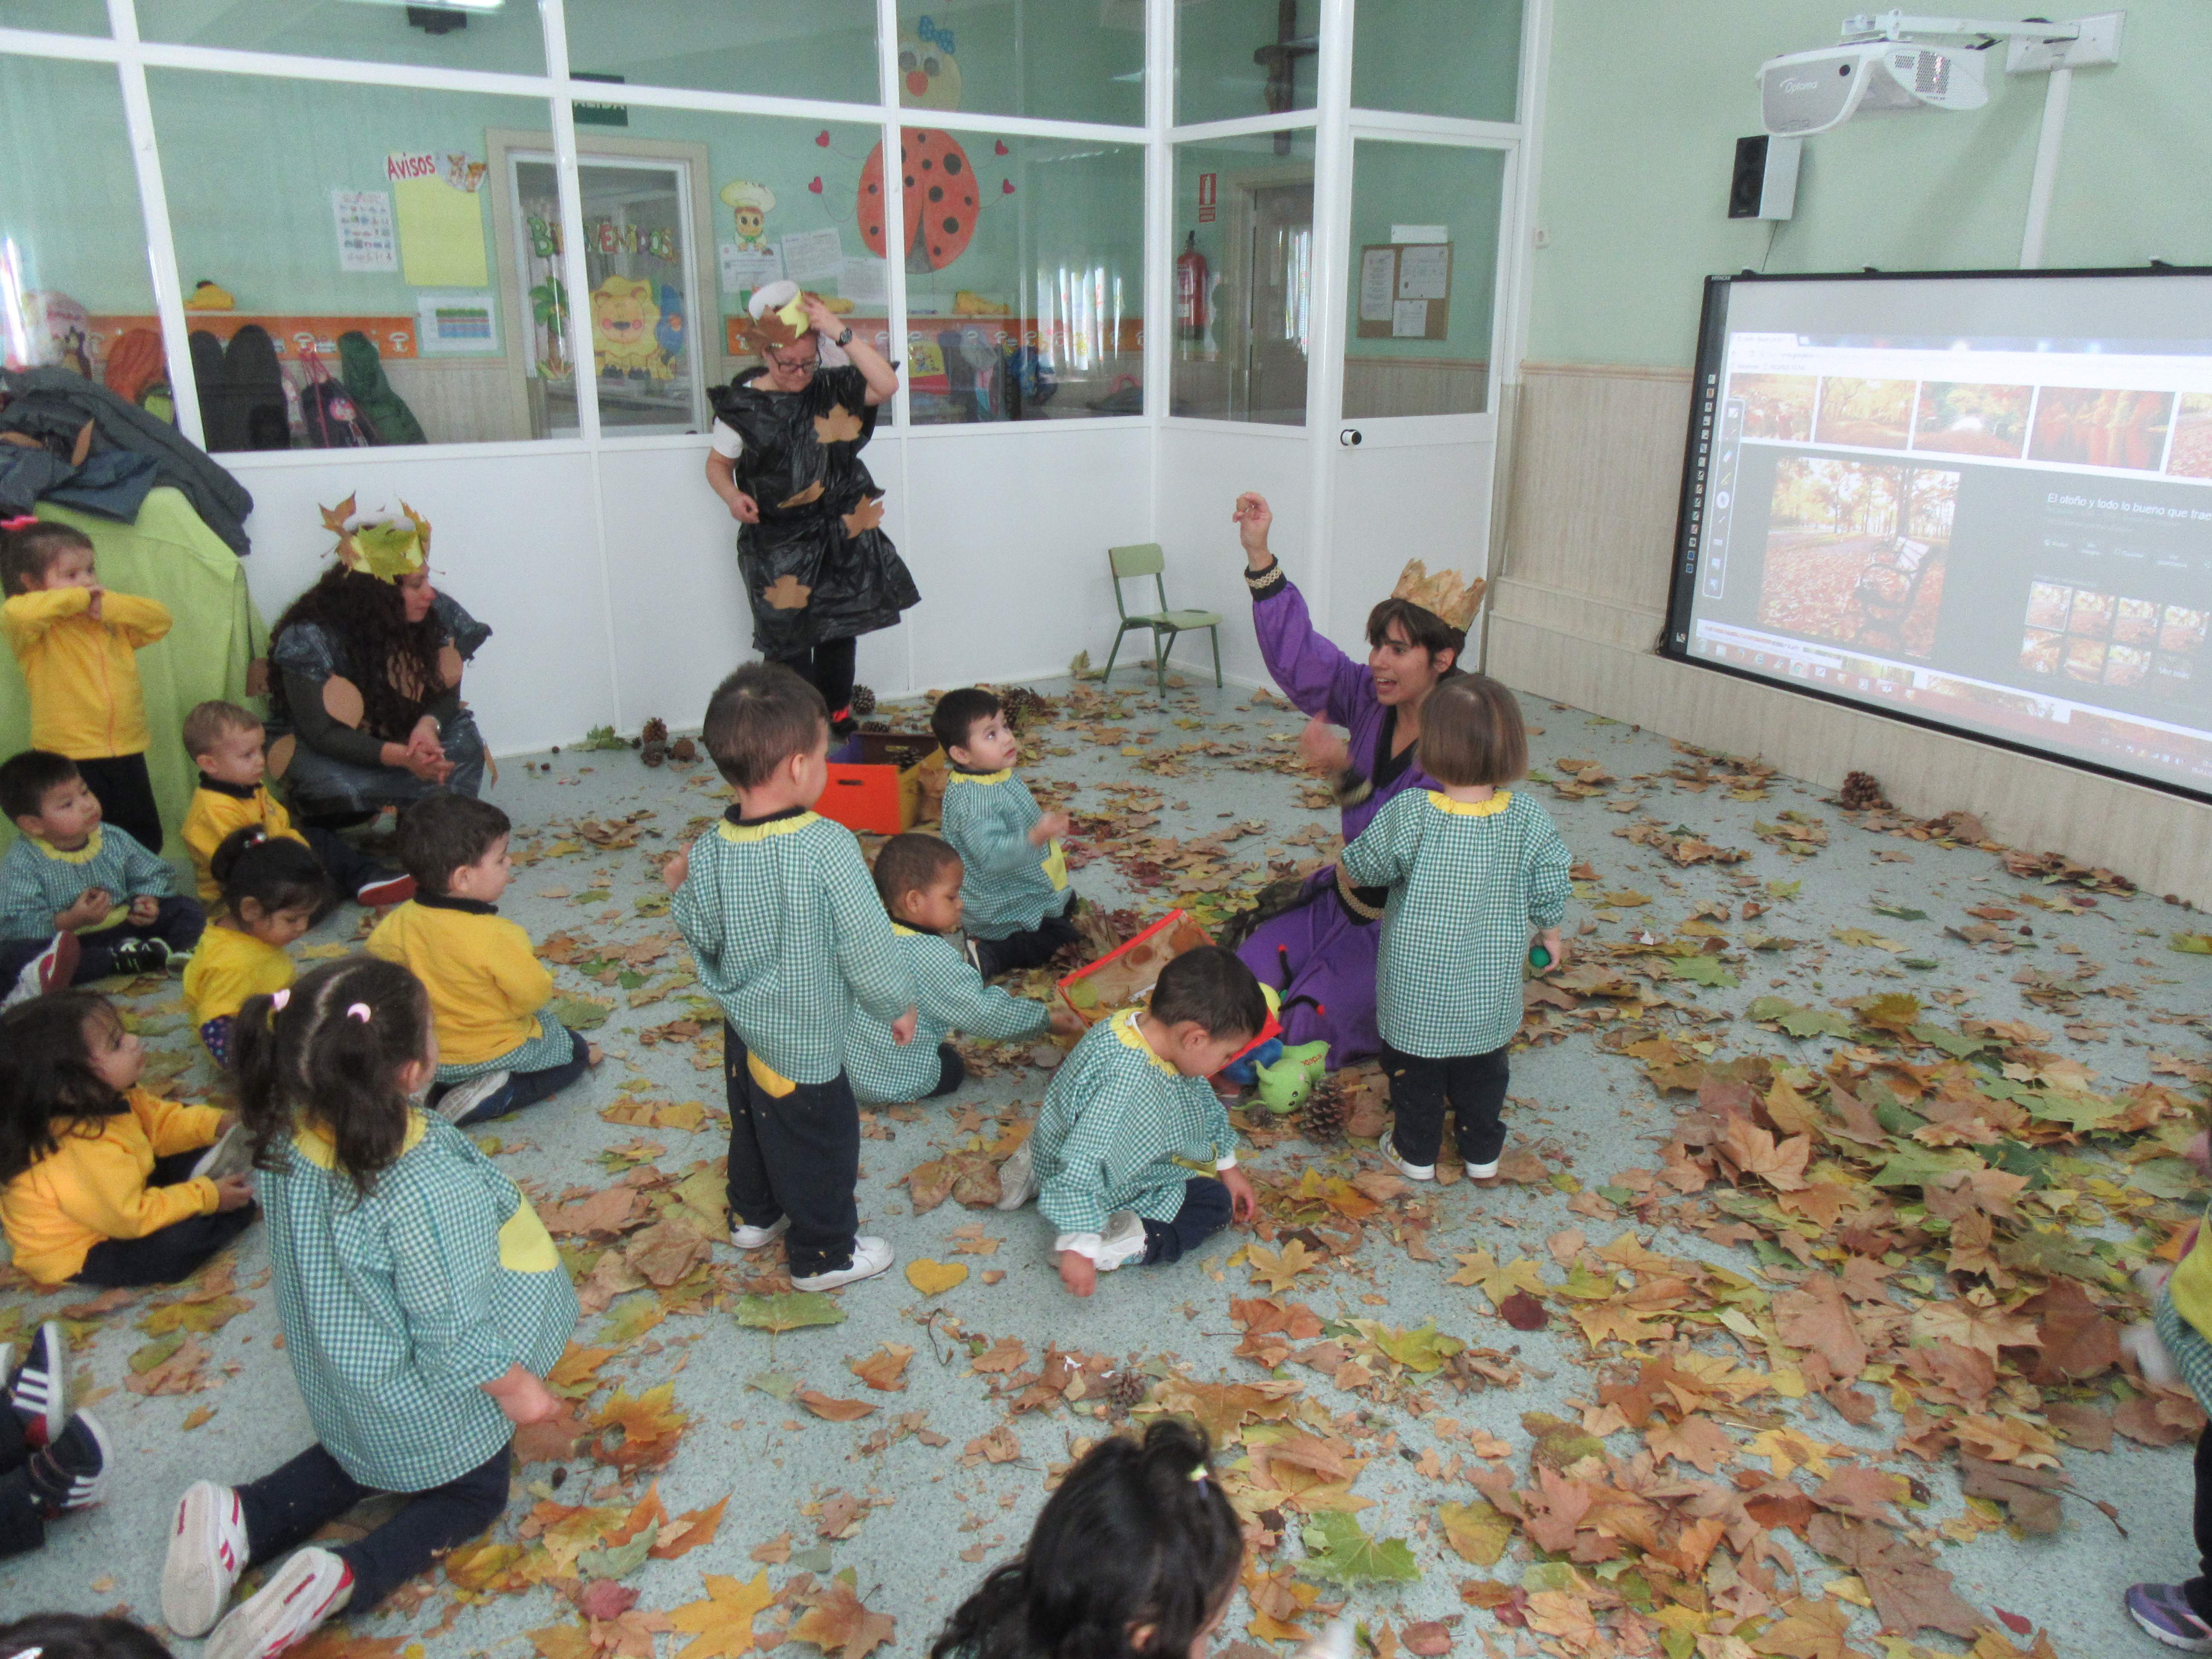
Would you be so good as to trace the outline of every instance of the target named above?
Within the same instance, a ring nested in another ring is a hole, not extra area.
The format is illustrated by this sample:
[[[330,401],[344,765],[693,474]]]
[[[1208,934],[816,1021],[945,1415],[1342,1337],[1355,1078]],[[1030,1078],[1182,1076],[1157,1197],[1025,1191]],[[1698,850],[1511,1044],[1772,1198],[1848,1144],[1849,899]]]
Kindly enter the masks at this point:
[[[1237,1168],[1237,1130],[1212,1084],[1152,1053],[1137,1009],[1075,1044],[1044,1091],[1031,1146],[1055,1250],[1095,1250],[1115,1210],[1172,1221],[1192,1175]]]

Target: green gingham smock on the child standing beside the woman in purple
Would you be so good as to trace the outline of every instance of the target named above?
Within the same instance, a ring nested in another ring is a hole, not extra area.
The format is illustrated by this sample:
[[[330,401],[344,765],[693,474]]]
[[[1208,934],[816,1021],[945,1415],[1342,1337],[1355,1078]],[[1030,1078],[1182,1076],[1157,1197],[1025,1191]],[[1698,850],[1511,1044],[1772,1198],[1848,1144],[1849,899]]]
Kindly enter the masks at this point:
[[[1573,887],[1551,814],[1511,790],[1473,803],[1407,790],[1340,863],[1360,887],[1389,887],[1376,967],[1383,1042],[1422,1060],[1511,1042],[1528,931],[1557,927]]]

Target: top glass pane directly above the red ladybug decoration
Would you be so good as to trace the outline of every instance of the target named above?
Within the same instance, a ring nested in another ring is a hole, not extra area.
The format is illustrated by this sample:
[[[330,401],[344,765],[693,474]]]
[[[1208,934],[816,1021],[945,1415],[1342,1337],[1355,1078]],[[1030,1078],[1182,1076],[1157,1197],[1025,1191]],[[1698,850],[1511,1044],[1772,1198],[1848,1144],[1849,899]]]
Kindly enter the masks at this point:
[[[1144,0],[900,0],[898,102],[1144,126]]]

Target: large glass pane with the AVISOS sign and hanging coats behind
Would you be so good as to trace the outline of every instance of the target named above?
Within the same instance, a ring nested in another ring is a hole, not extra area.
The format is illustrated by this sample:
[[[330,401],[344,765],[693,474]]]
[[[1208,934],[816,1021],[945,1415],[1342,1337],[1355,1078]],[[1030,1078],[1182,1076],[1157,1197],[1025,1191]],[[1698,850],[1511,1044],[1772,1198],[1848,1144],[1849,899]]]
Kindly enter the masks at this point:
[[[146,75],[210,451],[529,438],[487,135],[544,102]]]

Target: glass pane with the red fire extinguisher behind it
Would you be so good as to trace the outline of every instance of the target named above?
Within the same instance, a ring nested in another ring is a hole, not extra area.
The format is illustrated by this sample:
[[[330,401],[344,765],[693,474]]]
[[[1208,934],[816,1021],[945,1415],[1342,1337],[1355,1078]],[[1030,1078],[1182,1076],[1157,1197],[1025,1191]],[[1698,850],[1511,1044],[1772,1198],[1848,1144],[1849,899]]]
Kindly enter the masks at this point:
[[[1303,427],[1314,332],[1314,135],[1179,144],[1172,234],[1168,414]]]

